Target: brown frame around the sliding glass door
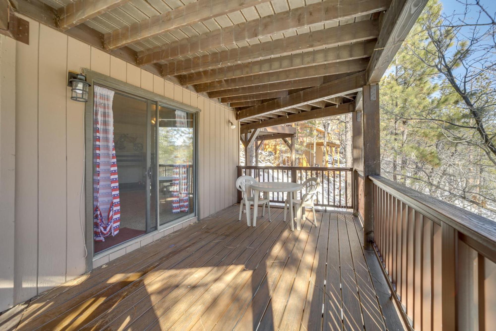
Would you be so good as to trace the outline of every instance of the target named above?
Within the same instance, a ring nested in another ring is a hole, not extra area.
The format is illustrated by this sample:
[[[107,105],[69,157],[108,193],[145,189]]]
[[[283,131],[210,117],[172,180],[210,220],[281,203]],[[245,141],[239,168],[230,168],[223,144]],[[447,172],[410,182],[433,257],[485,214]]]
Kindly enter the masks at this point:
[[[186,105],[184,103],[181,103],[179,101],[173,100],[171,98],[168,98],[166,96],[151,92],[149,90],[146,90],[144,88],[129,84],[129,83],[124,83],[123,81],[119,81],[115,78],[109,77],[107,75],[103,75],[100,73],[97,73],[95,71],[82,68],[81,72],[86,75],[86,81],[91,84],[91,86],[88,89],[88,102],[86,102],[85,107],[84,107],[84,124],[85,124],[85,129],[84,129],[84,144],[85,144],[85,162],[84,162],[84,183],[85,183],[85,221],[86,221],[86,226],[85,226],[85,245],[87,249],[87,255],[86,255],[86,271],[89,271],[93,269],[93,259],[98,258],[99,256],[103,256],[109,253],[108,250],[99,252],[97,254],[94,254],[94,248],[93,248],[93,86],[95,84],[103,87],[110,88],[112,90],[115,90],[117,92],[126,94],[130,97],[136,97],[139,99],[146,99],[149,100],[147,101],[147,116],[150,114],[150,105],[155,101],[156,107],[156,118],[158,119],[158,107],[157,105],[163,105],[169,108],[173,109],[178,109],[178,110],[183,110],[186,112],[194,113],[194,139],[193,139],[193,192],[194,192],[194,199],[193,199],[193,204],[194,204],[194,209],[193,213],[185,215],[184,217],[181,217],[177,220],[174,220],[170,223],[164,224],[162,226],[159,226],[160,222],[158,219],[158,198],[159,194],[156,192],[155,194],[155,208],[156,208],[156,213],[155,213],[155,219],[156,219],[156,229],[155,231],[152,231],[148,233],[147,235],[158,233],[164,228],[170,228],[171,226],[174,226],[175,224],[182,223],[186,219],[190,219],[194,216],[199,215],[199,191],[198,191],[198,124],[199,124],[199,114],[200,114],[200,109],[197,107],[192,107],[190,105]],[[149,121],[148,121],[149,122]],[[147,127],[149,127],[148,125]],[[148,130],[147,130],[148,131]],[[150,132],[147,134],[147,159],[149,153],[151,151],[149,150],[149,142],[150,142]],[[158,173],[158,130],[156,130],[156,135],[155,135],[155,172]],[[150,165],[151,163],[148,163]],[[148,176],[147,176],[148,179]],[[148,181],[148,180],[147,180]],[[158,175],[155,175],[155,187],[158,189]],[[147,187],[149,187],[147,185]],[[82,197],[81,197],[82,198]],[[149,195],[147,195],[147,200],[149,200]],[[148,204],[149,206],[149,204]],[[147,214],[149,213],[149,208],[147,207]],[[149,215],[147,215],[147,220],[149,220]],[[135,238],[134,238],[135,239]],[[134,239],[130,239],[129,241],[132,241]],[[125,241],[121,243],[120,245],[114,247],[114,248],[119,248],[125,243],[129,242]],[[111,248],[112,249],[112,248]]]

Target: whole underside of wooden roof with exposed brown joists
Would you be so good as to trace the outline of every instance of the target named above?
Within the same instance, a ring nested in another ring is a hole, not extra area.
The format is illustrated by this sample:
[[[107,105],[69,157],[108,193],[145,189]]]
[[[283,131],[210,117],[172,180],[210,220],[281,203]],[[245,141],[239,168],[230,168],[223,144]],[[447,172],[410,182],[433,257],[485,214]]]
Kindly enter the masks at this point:
[[[19,0],[18,12],[218,98],[243,132],[355,110],[426,0]]]

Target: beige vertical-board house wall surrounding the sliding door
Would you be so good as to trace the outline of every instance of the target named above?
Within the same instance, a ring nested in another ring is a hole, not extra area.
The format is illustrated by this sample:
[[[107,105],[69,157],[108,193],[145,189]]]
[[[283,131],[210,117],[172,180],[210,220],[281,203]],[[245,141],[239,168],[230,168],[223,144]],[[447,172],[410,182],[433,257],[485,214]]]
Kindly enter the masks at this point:
[[[79,221],[80,213],[84,227],[85,202],[80,202],[84,104],[70,100],[70,88],[66,86],[68,70],[79,72],[81,68],[89,68],[200,108],[199,217],[207,217],[236,202],[234,181],[239,128],[229,127],[228,121],[235,121],[233,111],[32,19],[23,18],[30,23],[29,45],[6,39],[15,45],[15,50],[10,52],[15,60],[12,69],[15,75],[11,75],[12,91],[3,93],[2,90],[0,100],[2,105],[6,102],[15,104],[15,120],[11,116],[13,122],[9,131],[4,130],[3,121],[0,131],[2,144],[7,142],[4,135],[15,137],[12,146],[15,153],[11,158],[13,161],[15,155],[15,172],[8,172],[12,186],[15,186],[10,190],[12,200],[15,192],[15,204],[11,203],[2,213],[8,217],[2,217],[1,232],[2,251],[9,252],[2,254],[2,258],[10,258],[5,260],[6,264],[2,260],[2,272],[10,272],[10,277],[2,274],[1,278],[10,281],[5,290],[1,286],[0,311],[86,271]],[[4,114],[7,116],[2,108],[2,119]],[[1,150],[4,151],[7,153],[7,150]],[[3,163],[2,154],[1,176],[7,175]],[[2,177],[1,183],[8,181]],[[7,192],[3,186],[1,191]],[[83,199],[84,196],[83,191]]]

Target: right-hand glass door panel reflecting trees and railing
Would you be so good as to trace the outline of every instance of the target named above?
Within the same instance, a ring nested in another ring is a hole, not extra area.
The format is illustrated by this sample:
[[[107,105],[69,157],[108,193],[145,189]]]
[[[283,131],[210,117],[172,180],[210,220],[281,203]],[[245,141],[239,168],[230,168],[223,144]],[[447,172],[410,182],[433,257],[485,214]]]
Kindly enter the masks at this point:
[[[159,107],[159,224],[194,212],[194,115]]]

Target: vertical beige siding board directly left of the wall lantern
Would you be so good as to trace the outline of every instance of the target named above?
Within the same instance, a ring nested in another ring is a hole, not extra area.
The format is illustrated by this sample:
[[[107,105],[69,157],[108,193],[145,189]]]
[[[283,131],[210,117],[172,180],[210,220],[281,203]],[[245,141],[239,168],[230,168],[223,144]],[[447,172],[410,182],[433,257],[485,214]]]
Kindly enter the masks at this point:
[[[67,36],[40,25],[39,43],[38,292],[43,292],[63,283],[66,273]]]

